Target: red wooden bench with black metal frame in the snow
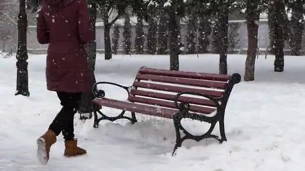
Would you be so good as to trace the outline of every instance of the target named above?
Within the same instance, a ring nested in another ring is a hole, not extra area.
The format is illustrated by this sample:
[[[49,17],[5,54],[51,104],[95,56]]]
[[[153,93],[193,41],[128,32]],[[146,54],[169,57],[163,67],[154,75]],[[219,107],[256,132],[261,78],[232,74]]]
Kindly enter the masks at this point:
[[[112,82],[97,82],[93,85],[94,108],[106,106],[122,110],[119,115],[109,117],[98,108],[94,109],[94,127],[98,127],[99,121],[103,119],[114,121],[125,118],[135,123],[135,113],[142,113],[174,120],[176,144],[173,154],[185,139],[200,141],[212,137],[222,143],[227,140],[224,128],[225,108],[234,84],[239,83],[240,79],[238,73],[222,75],[142,67],[132,86]],[[124,88],[128,99],[121,101],[107,98],[103,90],[97,89],[98,84],[112,84]],[[125,111],[131,112],[131,117],[125,116]],[[97,113],[101,115],[100,118]],[[183,118],[209,122],[211,126],[202,135],[192,135],[181,124]],[[212,134],[217,122],[220,126],[220,137]],[[185,134],[183,137],[180,130]]]

